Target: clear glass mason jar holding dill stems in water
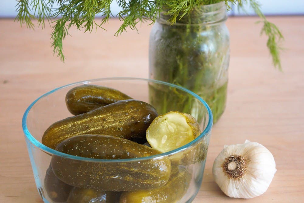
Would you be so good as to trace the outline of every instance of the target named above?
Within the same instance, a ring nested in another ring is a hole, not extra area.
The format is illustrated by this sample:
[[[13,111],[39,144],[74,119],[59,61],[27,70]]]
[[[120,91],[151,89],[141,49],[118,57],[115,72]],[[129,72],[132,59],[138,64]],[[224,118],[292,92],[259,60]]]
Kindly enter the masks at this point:
[[[151,30],[149,77],[183,86],[201,96],[216,122],[225,109],[228,82],[229,32],[225,25],[225,3],[195,7],[174,25],[168,23],[169,18],[161,14]],[[153,94],[160,95],[161,91]],[[178,102],[176,95],[163,96],[168,109]]]

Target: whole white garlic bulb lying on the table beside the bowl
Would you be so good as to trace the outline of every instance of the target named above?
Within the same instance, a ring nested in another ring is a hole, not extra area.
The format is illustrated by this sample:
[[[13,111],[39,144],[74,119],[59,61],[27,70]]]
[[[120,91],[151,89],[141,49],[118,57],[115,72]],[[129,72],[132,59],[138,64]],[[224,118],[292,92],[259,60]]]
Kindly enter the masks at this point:
[[[257,142],[225,145],[213,163],[212,173],[221,190],[233,198],[263,194],[275,175],[275,159]]]

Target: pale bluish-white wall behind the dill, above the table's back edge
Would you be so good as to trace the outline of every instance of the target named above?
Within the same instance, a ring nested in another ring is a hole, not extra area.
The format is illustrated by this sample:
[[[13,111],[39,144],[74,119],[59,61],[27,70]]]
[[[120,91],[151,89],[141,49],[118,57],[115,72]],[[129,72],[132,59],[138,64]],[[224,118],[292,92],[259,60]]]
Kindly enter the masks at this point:
[[[259,2],[265,15],[304,15],[304,0],[259,0]],[[15,17],[16,4],[15,0],[0,0],[0,17]],[[111,4],[111,10],[114,16],[120,10],[115,0]],[[248,14],[254,13],[249,9],[247,11]],[[235,8],[230,15],[246,14]]]

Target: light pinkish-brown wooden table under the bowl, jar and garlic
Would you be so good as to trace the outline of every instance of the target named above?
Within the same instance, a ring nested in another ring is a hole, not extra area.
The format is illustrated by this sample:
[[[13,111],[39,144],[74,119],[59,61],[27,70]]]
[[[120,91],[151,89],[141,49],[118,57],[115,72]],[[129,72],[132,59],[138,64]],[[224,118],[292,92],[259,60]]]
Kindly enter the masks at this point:
[[[304,17],[269,17],[285,36],[283,72],[275,70],[255,17],[230,17],[228,101],[214,125],[202,187],[193,202],[245,202],[226,197],[212,177],[223,145],[246,139],[266,146],[277,173],[263,195],[246,202],[304,201]],[[35,31],[0,20],[0,202],[42,202],[35,186],[21,119],[38,96],[71,82],[104,77],[148,77],[151,26],[114,37],[117,19],[97,33],[71,29],[65,63],[53,56],[50,28]]]

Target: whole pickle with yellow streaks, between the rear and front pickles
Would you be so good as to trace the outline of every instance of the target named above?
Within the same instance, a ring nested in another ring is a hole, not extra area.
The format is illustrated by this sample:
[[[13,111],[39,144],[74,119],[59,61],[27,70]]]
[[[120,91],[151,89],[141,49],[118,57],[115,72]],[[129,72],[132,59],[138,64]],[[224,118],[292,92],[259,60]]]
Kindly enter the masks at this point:
[[[74,135],[102,134],[146,142],[146,130],[157,117],[156,110],[138,100],[121,100],[84,114],[65,118],[44,132],[42,144],[55,149]]]

